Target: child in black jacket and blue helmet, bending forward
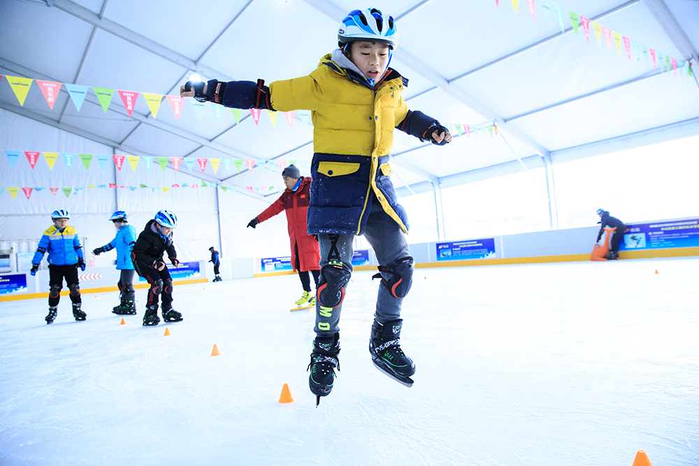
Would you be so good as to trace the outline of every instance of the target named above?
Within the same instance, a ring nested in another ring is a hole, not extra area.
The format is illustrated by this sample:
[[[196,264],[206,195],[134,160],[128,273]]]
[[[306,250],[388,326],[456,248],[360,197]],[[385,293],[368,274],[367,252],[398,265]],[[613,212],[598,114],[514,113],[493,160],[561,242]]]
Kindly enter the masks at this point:
[[[178,322],[182,314],[173,310],[173,279],[163,261],[163,253],[168,252],[171,263],[178,267],[173,229],[177,228],[177,216],[169,210],[160,210],[155,218],[148,221],[145,229],[138,235],[134,249],[131,249],[131,260],[134,262],[136,273],[150,283],[148,302],[143,316],[144,326],[156,326],[158,318],[158,296],[161,296],[163,320]]]

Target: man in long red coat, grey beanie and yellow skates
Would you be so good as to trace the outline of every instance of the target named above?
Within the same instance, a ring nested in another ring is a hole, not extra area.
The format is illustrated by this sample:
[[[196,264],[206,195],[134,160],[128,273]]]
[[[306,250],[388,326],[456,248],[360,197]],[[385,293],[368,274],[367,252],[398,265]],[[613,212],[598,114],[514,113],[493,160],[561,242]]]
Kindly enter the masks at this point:
[[[287,189],[284,189],[275,203],[250,220],[247,226],[255,228],[261,221],[271,219],[282,210],[286,210],[291,243],[291,267],[294,268],[294,272],[298,272],[303,285],[303,296],[296,301],[296,305],[308,303],[307,306],[312,307],[315,306],[315,293],[311,293],[308,271],[313,274],[313,281],[317,287],[320,276],[320,250],[315,236],[307,233],[306,212],[310,198],[310,178],[301,177],[298,168],[289,165],[282,171],[282,179]]]

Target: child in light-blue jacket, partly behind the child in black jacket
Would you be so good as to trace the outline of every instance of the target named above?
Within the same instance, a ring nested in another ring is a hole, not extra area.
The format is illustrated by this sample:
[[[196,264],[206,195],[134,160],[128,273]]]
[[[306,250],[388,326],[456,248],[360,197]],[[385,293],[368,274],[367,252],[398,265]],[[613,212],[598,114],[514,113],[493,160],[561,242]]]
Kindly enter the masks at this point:
[[[99,256],[103,252],[117,249],[117,270],[121,270],[121,276],[117,286],[119,287],[120,304],[113,308],[114,314],[136,314],[136,293],[134,293],[134,263],[131,262],[131,249],[136,244],[136,228],[129,225],[128,214],[123,210],[117,210],[109,219],[117,228],[117,235],[113,240],[102,247],[92,249],[92,254]]]

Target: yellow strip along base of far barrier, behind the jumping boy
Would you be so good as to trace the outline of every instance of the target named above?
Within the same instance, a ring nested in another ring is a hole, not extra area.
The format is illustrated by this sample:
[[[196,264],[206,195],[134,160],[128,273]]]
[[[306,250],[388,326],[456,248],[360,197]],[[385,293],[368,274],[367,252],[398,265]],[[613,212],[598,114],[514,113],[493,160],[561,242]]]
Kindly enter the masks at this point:
[[[620,251],[619,259],[653,259],[667,257],[699,256],[699,247],[677,247],[672,249],[640,249],[638,251]],[[508,257],[505,259],[469,259],[466,261],[422,262],[415,268],[464,267],[475,265],[513,265],[528,263],[556,263],[589,261],[590,254],[563,254],[561,256]],[[375,265],[357,265],[354,270],[375,270]],[[292,270],[262,272],[254,274],[255,278],[273,277],[275,275],[294,275]]]

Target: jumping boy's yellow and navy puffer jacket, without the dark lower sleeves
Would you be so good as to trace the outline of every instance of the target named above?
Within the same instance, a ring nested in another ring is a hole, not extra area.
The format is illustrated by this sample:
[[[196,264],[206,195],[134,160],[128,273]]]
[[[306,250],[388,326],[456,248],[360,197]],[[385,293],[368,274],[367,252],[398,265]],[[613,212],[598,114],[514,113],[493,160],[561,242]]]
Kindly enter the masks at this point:
[[[389,180],[395,127],[408,115],[407,85],[389,68],[371,89],[325,55],[308,76],[269,86],[275,110],[311,110],[315,155],[308,233],[363,234],[370,190],[401,229],[408,218]]]

